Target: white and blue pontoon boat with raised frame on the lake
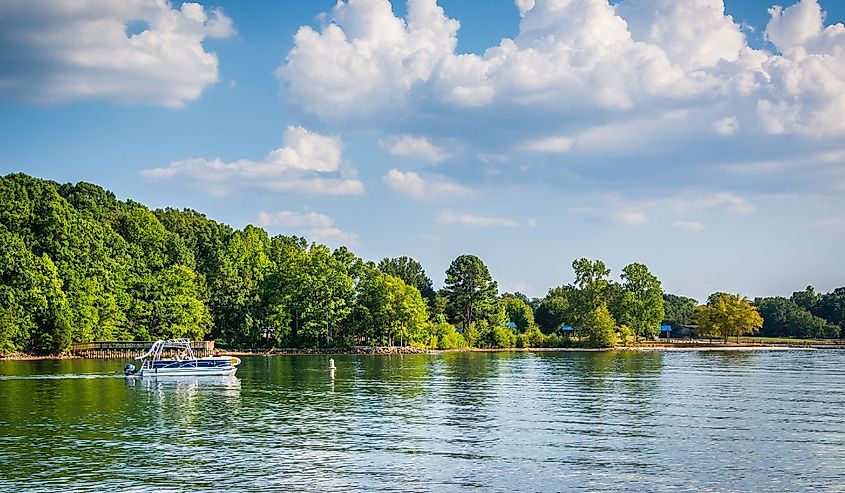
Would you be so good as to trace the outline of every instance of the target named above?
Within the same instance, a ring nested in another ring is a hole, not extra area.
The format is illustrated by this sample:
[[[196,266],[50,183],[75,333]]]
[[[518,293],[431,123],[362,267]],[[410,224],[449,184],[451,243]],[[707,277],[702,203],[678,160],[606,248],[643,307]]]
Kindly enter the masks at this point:
[[[166,355],[168,358],[163,358]],[[158,340],[149,351],[135,358],[141,367],[123,367],[126,376],[230,376],[238,370],[241,360],[234,356],[194,357],[190,339]]]

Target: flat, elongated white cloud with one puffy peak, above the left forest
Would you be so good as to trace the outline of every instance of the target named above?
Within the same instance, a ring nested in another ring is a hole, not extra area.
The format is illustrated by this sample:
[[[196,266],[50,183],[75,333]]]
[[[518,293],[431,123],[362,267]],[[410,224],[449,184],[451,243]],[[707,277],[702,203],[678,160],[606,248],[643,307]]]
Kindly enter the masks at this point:
[[[261,161],[190,158],[168,167],[141,172],[151,180],[179,179],[189,185],[225,194],[241,186],[313,195],[359,195],[364,185],[353,169],[343,169],[341,142],[337,137],[309,132],[290,126],[283,137],[284,146],[267,154]]]

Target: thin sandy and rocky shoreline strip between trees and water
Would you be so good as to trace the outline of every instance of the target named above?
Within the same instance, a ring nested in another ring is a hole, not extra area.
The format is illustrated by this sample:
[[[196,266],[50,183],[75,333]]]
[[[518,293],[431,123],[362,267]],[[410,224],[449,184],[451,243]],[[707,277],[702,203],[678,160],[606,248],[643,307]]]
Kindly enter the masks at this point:
[[[276,348],[269,350],[220,350],[221,356],[331,356],[331,355],[405,355],[405,354],[447,354],[447,353],[550,353],[550,352],[604,352],[604,351],[815,351],[823,349],[845,350],[845,345],[839,343],[820,344],[710,344],[710,343],[680,343],[678,345],[640,345],[620,346],[613,348],[586,347],[539,347],[539,348],[460,348],[460,349],[427,349],[414,346],[353,346],[348,348]],[[41,361],[41,360],[69,360],[69,359],[100,359],[86,358],[73,354],[33,355],[26,353],[12,353],[0,355],[0,361]]]

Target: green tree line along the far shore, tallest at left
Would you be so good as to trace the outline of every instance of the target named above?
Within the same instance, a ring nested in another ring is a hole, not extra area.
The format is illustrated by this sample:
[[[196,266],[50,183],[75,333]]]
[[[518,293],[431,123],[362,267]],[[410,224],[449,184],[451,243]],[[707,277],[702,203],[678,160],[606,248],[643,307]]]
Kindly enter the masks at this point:
[[[698,305],[664,293],[643,264],[619,282],[599,260],[572,269],[573,283],[528,299],[500,294],[484,262],[461,255],[435,290],[409,257],[368,262],[192,210],[150,210],[90,183],[0,178],[3,353],[174,337],[239,348],[607,347],[654,338],[661,323],[724,338],[837,337],[845,326],[845,288],[753,302],[715,293]]]

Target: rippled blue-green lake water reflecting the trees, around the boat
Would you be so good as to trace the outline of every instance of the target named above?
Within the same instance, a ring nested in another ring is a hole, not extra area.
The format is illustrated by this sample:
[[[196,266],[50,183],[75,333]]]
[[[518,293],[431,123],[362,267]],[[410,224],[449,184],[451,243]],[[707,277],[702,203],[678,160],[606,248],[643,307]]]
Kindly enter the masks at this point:
[[[0,490],[845,490],[845,351],[334,359],[0,361]]]

